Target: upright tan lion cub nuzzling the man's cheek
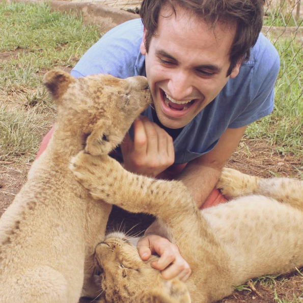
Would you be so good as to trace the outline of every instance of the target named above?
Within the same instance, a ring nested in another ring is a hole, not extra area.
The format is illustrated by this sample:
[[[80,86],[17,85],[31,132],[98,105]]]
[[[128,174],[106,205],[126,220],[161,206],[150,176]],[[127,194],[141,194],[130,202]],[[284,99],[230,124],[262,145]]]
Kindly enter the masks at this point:
[[[78,302],[96,296],[93,254],[112,206],[91,198],[69,170],[70,158],[107,154],[151,100],[145,77],[60,70],[44,77],[58,121],[27,182],[0,219],[0,301]],[[85,281],[84,281],[85,279]]]

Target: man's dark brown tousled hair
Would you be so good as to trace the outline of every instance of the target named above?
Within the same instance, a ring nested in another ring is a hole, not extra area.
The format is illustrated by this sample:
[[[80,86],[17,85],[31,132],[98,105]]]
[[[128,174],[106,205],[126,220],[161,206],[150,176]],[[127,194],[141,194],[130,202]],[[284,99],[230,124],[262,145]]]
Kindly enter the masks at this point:
[[[230,49],[230,75],[237,62],[250,57],[250,50],[257,42],[263,24],[264,0],[143,0],[140,10],[146,29],[145,47],[148,52],[152,36],[158,26],[160,10],[171,7],[184,8],[201,17],[214,29],[218,22],[236,22],[236,35]]]

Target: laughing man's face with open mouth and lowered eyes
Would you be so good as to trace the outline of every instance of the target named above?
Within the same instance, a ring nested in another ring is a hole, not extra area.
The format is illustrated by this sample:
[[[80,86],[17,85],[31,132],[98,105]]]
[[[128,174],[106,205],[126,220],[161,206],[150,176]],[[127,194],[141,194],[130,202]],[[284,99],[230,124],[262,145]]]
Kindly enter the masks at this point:
[[[229,51],[236,26],[207,23],[184,9],[162,9],[156,36],[146,52],[146,74],[160,122],[169,128],[188,124],[239,73],[239,66],[227,77]]]

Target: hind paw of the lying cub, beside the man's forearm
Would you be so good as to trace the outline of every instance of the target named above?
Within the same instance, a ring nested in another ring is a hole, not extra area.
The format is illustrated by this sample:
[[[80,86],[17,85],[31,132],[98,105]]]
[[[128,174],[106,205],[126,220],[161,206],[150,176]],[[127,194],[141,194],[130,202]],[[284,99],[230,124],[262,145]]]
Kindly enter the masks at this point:
[[[256,191],[257,177],[242,174],[237,170],[224,168],[216,188],[227,198],[252,195]]]

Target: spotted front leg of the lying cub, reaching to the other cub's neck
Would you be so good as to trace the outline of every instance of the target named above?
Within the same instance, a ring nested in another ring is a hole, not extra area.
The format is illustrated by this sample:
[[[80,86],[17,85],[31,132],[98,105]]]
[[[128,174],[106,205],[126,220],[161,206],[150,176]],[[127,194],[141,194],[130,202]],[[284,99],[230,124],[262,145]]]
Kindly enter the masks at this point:
[[[150,213],[166,222],[171,221],[172,210],[177,217],[198,213],[181,181],[155,180],[130,173],[107,155],[92,156],[82,151],[71,160],[70,169],[94,199],[127,211]]]

